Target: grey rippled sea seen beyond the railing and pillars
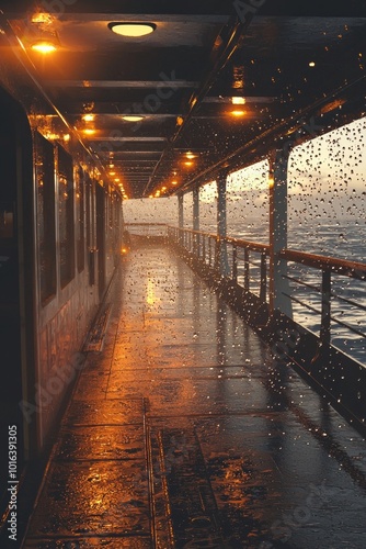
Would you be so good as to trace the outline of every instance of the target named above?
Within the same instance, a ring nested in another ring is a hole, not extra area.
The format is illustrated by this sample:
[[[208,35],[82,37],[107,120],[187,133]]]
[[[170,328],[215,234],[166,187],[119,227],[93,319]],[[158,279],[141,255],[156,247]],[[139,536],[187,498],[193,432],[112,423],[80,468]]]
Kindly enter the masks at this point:
[[[216,232],[216,227],[202,224],[203,231]],[[251,223],[231,223],[227,231],[228,236],[245,240],[268,243],[268,227],[260,220]],[[354,220],[333,223],[323,223],[319,226],[310,224],[291,224],[288,229],[288,248],[336,257],[350,261],[366,264],[366,222]],[[254,293],[259,292],[259,255],[252,254],[251,260],[256,265],[250,268],[250,287]],[[230,254],[229,254],[230,262]],[[242,264],[242,261],[241,261]],[[243,281],[243,269],[239,267],[239,282]],[[321,285],[321,271],[289,264],[288,274],[309,285],[289,281],[293,300],[294,320],[319,335],[321,294],[317,288]],[[345,301],[346,300],[346,301]],[[299,303],[301,302],[301,303]],[[306,305],[312,309],[308,309]],[[366,366],[366,280],[359,281],[348,277],[332,277],[332,345],[346,352],[352,358]],[[361,333],[361,334],[359,334]]]

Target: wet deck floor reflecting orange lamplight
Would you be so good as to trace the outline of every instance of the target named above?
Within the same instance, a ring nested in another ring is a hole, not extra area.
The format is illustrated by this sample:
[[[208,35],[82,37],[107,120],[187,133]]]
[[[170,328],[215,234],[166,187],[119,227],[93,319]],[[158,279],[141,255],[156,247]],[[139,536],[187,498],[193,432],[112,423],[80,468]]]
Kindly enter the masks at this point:
[[[169,250],[124,267],[24,547],[364,549],[365,441]]]

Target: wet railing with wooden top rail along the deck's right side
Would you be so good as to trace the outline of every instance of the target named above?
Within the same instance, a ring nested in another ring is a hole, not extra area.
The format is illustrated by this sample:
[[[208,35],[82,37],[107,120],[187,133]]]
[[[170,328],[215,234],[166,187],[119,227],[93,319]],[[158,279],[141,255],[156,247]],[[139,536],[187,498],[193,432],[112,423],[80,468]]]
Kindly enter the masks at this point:
[[[258,267],[259,272],[255,272],[255,291],[259,289],[258,296],[262,303],[267,303],[267,292],[271,291],[267,280],[268,264],[271,266],[271,261],[279,259],[285,262],[294,262],[296,265],[317,269],[321,273],[319,285],[308,283],[300,280],[298,277],[287,274],[286,271],[282,273],[282,277],[319,294],[321,299],[319,309],[298,299],[296,294],[293,293],[291,288],[288,288],[288,290],[283,288],[281,292],[293,303],[298,303],[302,307],[320,315],[320,332],[318,335],[319,348],[325,349],[331,345],[334,324],[343,326],[359,337],[366,337],[356,326],[353,327],[347,322],[344,322],[344,320],[341,321],[336,315],[332,314],[334,300],[340,300],[342,303],[348,303],[362,311],[366,309],[362,303],[356,303],[356,301],[345,298],[342,294],[339,295],[332,289],[334,274],[348,277],[356,281],[366,281],[366,264],[291,249],[282,249],[278,254],[272,254],[272,248],[267,244],[220,236],[205,231],[195,231],[185,227],[169,226],[168,235],[172,236],[186,253],[196,257],[202,265],[206,265],[221,277],[231,279],[232,282],[241,285],[244,292],[253,292],[251,288],[253,279],[250,274],[250,265]],[[239,248],[243,248],[243,255],[239,254]],[[260,261],[254,262],[251,260],[251,251],[260,255]]]

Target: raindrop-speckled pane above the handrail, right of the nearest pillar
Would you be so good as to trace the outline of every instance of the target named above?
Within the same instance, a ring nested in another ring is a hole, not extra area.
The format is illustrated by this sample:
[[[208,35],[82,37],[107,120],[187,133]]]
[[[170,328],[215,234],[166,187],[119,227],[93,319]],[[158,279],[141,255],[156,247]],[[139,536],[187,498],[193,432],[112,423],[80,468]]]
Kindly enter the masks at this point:
[[[288,244],[366,260],[366,119],[296,147],[288,163]]]

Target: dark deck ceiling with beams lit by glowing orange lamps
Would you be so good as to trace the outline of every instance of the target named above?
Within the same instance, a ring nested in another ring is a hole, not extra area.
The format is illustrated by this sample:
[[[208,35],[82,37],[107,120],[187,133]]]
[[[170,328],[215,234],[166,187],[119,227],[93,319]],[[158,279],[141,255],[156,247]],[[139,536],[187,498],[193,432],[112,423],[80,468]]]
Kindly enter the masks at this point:
[[[317,116],[331,128],[366,111],[362,0],[4,0],[1,10],[42,88],[129,198],[180,192],[301,124],[313,136]],[[124,37],[111,22],[156,30]],[[60,46],[48,56],[30,48],[44,33]]]

